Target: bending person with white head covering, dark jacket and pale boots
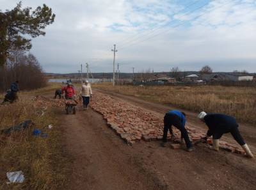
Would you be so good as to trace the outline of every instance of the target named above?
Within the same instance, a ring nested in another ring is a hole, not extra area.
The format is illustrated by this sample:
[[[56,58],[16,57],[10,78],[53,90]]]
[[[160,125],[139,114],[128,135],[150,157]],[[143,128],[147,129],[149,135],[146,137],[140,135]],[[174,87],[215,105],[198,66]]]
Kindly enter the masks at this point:
[[[209,130],[207,131],[205,139],[212,136],[212,149],[219,150],[219,139],[223,134],[230,132],[233,138],[237,141],[239,145],[242,146],[244,152],[248,157],[253,157],[250,148],[244,142],[243,137],[241,136],[238,127],[239,125],[236,122],[236,119],[232,116],[220,114],[220,113],[205,113],[202,111],[198,118],[204,122]]]

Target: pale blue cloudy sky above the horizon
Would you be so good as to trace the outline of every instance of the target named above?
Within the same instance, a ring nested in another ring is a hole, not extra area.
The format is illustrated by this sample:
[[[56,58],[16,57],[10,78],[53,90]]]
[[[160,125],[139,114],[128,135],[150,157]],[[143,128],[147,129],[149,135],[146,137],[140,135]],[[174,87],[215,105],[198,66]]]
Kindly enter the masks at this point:
[[[0,10],[19,1],[0,0]],[[256,72],[256,0],[24,0],[56,14],[32,49],[45,72]],[[115,67],[117,70],[117,67]]]

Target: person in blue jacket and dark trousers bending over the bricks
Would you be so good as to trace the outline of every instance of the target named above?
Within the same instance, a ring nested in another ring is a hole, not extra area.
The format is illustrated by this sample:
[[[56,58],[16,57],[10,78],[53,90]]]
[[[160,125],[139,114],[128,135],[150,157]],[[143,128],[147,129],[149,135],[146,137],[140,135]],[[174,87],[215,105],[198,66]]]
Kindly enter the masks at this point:
[[[162,146],[166,146],[168,130],[173,138],[172,125],[179,129],[181,138],[184,138],[189,152],[193,151],[193,145],[189,140],[188,131],[185,128],[186,114],[177,110],[168,111],[164,116],[164,130],[163,130],[163,143]]]

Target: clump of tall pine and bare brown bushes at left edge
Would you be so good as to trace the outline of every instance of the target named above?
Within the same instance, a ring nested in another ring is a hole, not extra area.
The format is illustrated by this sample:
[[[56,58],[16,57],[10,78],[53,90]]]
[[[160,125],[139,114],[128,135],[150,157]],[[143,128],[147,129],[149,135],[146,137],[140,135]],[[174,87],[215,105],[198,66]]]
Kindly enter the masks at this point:
[[[45,35],[45,27],[54,18],[45,4],[32,10],[22,8],[19,2],[12,10],[0,10],[0,91],[7,90],[13,81],[19,81],[23,90],[45,86],[40,63],[29,50],[31,38]]]

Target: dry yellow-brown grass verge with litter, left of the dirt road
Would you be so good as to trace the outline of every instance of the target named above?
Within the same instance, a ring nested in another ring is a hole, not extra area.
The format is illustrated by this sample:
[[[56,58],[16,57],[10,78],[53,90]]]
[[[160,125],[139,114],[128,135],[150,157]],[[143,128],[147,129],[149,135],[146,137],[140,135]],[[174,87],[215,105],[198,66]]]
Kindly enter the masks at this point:
[[[61,148],[61,132],[58,120],[51,108],[45,115],[38,115],[41,107],[36,107],[29,96],[53,90],[56,86],[20,93],[19,102],[0,106],[0,130],[17,125],[24,120],[32,120],[33,128],[48,134],[47,138],[32,136],[33,129],[17,132],[7,137],[0,135],[0,189],[61,189],[67,178],[68,160]],[[48,125],[54,127],[48,129]],[[25,182],[6,184],[6,172],[23,171]]]

